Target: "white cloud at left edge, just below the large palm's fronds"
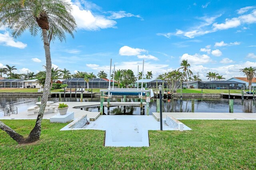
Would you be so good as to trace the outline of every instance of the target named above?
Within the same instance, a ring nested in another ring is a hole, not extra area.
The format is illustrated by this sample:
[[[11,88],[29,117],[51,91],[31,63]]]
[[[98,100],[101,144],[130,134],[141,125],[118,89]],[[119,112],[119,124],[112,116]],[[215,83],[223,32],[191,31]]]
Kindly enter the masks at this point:
[[[3,44],[5,46],[10,46],[10,47],[16,47],[20,49],[24,49],[27,44],[15,41],[9,34],[9,32],[5,32],[4,34],[0,33],[0,44]]]

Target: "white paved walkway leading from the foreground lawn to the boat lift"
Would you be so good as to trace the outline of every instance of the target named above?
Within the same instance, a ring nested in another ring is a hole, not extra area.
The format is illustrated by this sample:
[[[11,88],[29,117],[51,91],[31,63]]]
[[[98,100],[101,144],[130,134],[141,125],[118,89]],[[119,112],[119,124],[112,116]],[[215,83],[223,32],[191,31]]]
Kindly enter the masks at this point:
[[[160,130],[160,123],[152,115],[100,115],[96,121],[91,121],[84,128],[69,126],[61,130],[94,129],[106,130],[105,146],[142,147],[149,146],[148,130]],[[163,130],[178,130],[163,123]],[[184,125],[184,130],[191,130]]]

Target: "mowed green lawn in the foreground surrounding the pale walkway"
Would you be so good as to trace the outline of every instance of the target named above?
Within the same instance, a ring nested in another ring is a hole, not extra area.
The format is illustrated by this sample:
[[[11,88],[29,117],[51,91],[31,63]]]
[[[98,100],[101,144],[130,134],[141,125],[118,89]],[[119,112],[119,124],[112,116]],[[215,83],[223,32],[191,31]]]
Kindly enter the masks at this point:
[[[34,120],[3,120],[28,135]],[[150,147],[104,147],[104,131],[42,122],[34,144],[0,131],[0,169],[255,169],[256,121],[182,120],[190,131],[149,131]]]

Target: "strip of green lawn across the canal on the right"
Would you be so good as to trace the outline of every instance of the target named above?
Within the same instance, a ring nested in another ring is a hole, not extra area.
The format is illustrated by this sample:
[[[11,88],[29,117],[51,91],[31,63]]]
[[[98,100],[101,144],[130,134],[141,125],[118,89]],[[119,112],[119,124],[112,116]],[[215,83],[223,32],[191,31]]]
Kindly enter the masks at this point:
[[[245,90],[249,91],[249,90]],[[203,93],[228,93],[227,89],[203,89]],[[177,90],[180,93],[180,89]],[[202,89],[182,89],[182,93],[202,93]],[[242,93],[241,90],[231,89],[230,93]]]

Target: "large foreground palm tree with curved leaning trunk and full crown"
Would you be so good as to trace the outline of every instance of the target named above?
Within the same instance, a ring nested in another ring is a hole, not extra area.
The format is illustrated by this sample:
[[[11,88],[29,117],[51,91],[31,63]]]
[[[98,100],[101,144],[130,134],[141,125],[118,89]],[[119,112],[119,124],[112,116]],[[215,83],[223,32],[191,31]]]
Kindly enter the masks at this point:
[[[26,30],[32,36],[42,36],[46,57],[46,79],[44,93],[36,124],[28,138],[24,138],[10,127],[0,121],[0,128],[6,131],[18,143],[31,143],[39,140],[41,135],[41,123],[48,96],[50,94],[51,81],[51,55],[50,42],[58,38],[61,42],[66,40],[65,33],[72,37],[76,28],[76,22],[71,15],[70,4],[63,0],[1,0],[0,2],[0,27],[5,26],[12,30],[12,37],[20,37]]]

